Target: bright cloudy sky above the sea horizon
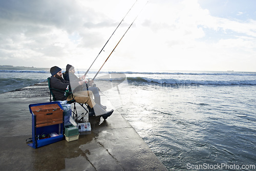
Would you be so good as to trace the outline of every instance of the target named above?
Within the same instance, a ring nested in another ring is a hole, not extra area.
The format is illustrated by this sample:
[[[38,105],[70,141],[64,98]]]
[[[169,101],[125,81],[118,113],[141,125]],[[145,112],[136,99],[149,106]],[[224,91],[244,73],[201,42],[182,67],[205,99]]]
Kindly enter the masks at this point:
[[[128,0],[0,0],[0,65],[87,69]],[[256,1],[138,0],[95,61],[109,71],[254,71]],[[143,9],[141,11],[141,9]],[[140,12],[141,11],[141,12]]]

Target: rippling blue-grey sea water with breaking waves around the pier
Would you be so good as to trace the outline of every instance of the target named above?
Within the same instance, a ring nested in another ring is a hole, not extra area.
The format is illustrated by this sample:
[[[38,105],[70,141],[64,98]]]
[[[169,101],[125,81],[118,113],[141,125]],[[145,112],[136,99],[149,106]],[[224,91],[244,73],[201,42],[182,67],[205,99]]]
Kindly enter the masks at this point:
[[[0,74],[1,93],[50,76]],[[255,170],[255,72],[102,72],[95,83],[169,170]]]

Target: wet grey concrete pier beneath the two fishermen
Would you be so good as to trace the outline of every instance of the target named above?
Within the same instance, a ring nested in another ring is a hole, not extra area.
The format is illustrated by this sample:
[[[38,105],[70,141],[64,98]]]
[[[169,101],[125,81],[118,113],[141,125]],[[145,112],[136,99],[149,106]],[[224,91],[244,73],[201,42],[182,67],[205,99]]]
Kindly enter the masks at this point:
[[[105,121],[87,117],[92,131],[78,140],[35,149],[26,143],[32,137],[29,104],[49,102],[47,83],[0,98],[0,170],[167,170],[117,110]]]

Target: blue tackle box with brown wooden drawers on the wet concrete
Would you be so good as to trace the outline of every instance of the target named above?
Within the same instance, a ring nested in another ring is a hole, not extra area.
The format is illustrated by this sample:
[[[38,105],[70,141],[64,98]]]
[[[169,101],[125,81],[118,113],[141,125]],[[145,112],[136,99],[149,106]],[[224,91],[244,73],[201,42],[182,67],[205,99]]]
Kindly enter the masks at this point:
[[[63,109],[58,101],[29,105],[32,114],[33,148],[45,146],[60,140],[64,136]]]

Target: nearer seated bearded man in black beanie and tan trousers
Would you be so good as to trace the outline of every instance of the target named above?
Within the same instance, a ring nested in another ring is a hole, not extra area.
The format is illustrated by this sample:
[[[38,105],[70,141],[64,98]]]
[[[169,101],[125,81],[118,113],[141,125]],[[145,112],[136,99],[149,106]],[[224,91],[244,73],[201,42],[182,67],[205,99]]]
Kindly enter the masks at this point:
[[[104,111],[100,105],[96,104],[94,100],[91,98],[93,96],[93,93],[91,91],[81,91],[77,93],[73,93],[69,95],[68,97],[65,97],[65,90],[67,87],[71,87],[71,84],[69,81],[66,81],[62,78],[62,72],[61,69],[57,66],[54,66],[50,69],[51,73],[51,78],[50,78],[50,83],[51,83],[51,88],[57,89],[57,90],[52,90],[52,93],[54,94],[56,100],[72,100],[73,98],[75,99],[76,102],[78,103],[87,103],[88,104],[88,109],[89,109],[89,116],[102,116],[103,119],[108,118],[114,110],[111,111]],[[82,84],[82,81],[79,82],[72,82],[72,84],[76,84],[76,86],[79,86]]]

